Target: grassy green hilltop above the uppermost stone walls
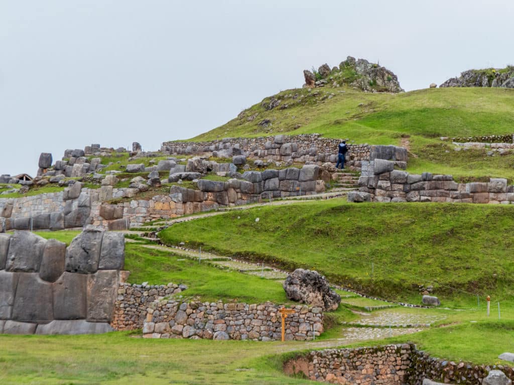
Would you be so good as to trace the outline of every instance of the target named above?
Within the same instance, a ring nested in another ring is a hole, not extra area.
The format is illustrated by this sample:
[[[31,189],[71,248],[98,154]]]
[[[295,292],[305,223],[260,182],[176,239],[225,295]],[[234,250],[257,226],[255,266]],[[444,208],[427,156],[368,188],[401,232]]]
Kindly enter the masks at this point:
[[[276,106],[270,109],[272,105]],[[439,140],[513,133],[513,111],[512,89],[433,88],[397,94],[344,87],[290,89],[191,140],[317,132],[355,143],[407,145],[412,172],[514,178],[514,155],[487,156],[486,150],[459,153],[451,143]]]

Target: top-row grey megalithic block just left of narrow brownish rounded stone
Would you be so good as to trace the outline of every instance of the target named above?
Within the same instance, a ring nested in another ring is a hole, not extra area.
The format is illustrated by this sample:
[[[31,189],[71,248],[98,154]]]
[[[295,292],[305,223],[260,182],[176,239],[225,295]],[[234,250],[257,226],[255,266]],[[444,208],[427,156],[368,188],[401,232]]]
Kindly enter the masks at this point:
[[[39,272],[46,240],[33,233],[15,231],[9,243],[6,270]]]

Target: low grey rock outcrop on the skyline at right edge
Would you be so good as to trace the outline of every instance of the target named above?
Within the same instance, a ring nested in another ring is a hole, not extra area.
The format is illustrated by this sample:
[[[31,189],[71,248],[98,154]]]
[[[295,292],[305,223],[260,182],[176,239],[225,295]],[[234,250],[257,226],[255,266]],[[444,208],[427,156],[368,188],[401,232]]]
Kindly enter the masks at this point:
[[[458,78],[450,78],[439,86],[446,87],[501,87],[514,88],[514,67],[470,69]]]

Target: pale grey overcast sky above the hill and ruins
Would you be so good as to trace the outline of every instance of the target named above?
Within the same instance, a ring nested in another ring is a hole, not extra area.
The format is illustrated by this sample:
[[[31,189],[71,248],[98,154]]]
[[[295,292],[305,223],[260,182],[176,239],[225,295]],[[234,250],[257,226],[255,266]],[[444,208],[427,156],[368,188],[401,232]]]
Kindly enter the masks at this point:
[[[514,63],[512,0],[0,0],[0,174],[91,143],[156,150],[347,55],[406,90]]]

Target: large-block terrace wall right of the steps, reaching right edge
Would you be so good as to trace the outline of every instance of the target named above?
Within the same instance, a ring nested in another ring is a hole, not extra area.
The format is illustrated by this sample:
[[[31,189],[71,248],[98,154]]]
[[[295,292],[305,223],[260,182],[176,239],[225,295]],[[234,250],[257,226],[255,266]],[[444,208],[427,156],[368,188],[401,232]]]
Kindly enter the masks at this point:
[[[489,182],[457,183],[451,175],[421,175],[395,170],[395,163],[376,159],[362,162],[359,191],[348,193],[349,201],[374,202],[514,202],[514,187],[507,180],[490,178]]]

